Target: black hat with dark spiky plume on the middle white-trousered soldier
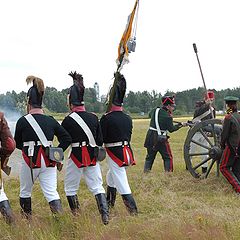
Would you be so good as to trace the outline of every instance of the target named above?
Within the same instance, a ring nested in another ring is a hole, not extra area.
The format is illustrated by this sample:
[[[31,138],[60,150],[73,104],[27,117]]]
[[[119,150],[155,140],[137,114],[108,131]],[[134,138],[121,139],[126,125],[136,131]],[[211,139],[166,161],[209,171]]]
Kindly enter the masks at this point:
[[[81,74],[75,72],[70,72],[68,74],[73,79],[73,85],[69,88],[69,104],[76,106],[84,105],[83,96],[84,96],[84,85],[83,77]]]

